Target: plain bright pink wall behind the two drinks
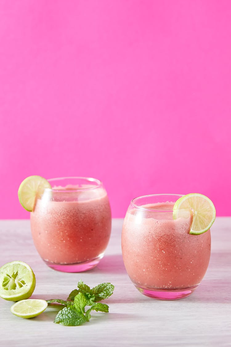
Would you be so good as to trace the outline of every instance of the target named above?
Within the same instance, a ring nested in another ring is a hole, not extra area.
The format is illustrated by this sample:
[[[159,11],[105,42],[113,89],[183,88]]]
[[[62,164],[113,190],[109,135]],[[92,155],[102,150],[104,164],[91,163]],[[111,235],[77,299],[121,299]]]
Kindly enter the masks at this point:
[[[0,0],[0,218],[29,175],[91,176],[113,217],[199,192],[230,215],[231,2]]]

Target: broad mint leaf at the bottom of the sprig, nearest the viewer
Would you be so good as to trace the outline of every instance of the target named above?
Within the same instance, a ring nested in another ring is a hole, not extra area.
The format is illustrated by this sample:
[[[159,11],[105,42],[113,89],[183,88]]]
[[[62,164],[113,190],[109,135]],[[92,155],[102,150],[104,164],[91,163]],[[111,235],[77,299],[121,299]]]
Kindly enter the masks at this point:
[[[54,323],[62,325],[80,325],[87,321],[85,315],[82,312],[77,311],[73,306],[64,307],[56,315]]]

